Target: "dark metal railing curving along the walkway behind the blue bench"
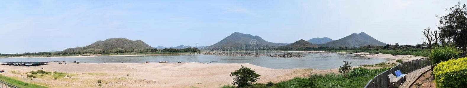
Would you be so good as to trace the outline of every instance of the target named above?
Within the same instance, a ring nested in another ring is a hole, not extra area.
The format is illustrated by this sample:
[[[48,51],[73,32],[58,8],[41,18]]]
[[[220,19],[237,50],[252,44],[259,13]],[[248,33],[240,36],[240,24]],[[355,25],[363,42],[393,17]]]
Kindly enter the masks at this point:
[[[373,77],[373,79],[367,83],[365,88],[388,88],[389,87],[388,75],[389,74],[396,75],[394,71],[401,70],[401,73],[406,74],[414,70],[428,66],[430,65],[430,63],[431,63],[430,58],[421,58],[417,60],[412,60],[410,62],[400,63],[392,67],[391,69],[386,70],[382,72],[381,74]]]

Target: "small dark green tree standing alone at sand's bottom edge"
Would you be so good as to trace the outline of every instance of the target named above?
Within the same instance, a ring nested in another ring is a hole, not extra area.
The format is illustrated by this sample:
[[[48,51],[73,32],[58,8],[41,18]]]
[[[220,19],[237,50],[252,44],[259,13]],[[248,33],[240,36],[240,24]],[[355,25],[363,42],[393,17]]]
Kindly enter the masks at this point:
[[[261,75],[258,75],[253,69],[244,67],[243,65],[240,66],[240,69],[230,73],[230,76],[235,76],[235,78],[233,78],[233,85],[237,85],[238,87],[246,87],[260,79],[259,77]]]

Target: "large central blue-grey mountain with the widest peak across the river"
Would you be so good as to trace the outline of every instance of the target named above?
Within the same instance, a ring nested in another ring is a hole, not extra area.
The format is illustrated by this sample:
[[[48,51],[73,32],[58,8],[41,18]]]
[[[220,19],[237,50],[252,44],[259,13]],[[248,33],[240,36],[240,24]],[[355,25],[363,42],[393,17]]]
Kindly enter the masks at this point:
[[[253,36],[250,34],[243,34],[240,32],[234,32],[230,36],[220,40],[216,44],[212,44],[209,47],[216,48],[216,47],[243,47],[243,46],[255,46],[255,47],[277,47],[282,46],[285,44],[280,43],[271,43],[259,36]]]

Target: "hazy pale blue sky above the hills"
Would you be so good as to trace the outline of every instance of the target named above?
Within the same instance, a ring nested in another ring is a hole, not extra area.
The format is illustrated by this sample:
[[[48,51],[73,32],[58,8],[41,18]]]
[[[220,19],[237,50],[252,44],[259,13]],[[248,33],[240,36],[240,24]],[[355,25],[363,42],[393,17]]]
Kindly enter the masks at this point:
[[[207,46],[235,31],[276,43],[364,31],[387,44],[421,44],[421,31],[437,30],[437,16],[457,2],[0,0],[0,53],[64,50],[107,38]]]

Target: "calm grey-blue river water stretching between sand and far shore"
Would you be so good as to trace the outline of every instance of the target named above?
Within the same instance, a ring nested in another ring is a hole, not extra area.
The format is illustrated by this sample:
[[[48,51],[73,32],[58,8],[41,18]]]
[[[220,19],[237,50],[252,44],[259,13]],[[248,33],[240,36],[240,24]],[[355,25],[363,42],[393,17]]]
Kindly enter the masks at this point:
[[[102,57],[68,57],[68,58],[0,58],[5,62],[35,62],[35,61],[80,61],[80,63],[157,63],[169,61],[170,63],[199,62],[207,63],[251,63],[254,65],[272,69],[335,69],[344,62],[352,63],[352,66],[364,64],[376,64],[386,61],[384,58],[358,57],[354,54],[340,53],[297,53],[304,57],[243,57],[243,56],[212,56],[212,55],[163,55],[163,56],[102,56]]]

